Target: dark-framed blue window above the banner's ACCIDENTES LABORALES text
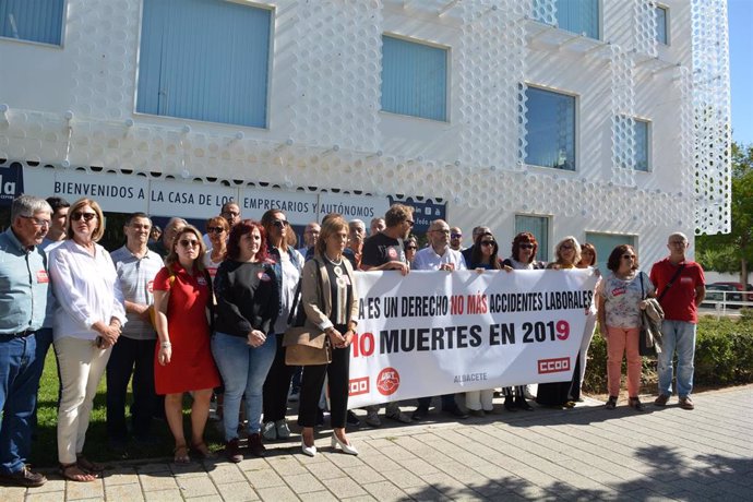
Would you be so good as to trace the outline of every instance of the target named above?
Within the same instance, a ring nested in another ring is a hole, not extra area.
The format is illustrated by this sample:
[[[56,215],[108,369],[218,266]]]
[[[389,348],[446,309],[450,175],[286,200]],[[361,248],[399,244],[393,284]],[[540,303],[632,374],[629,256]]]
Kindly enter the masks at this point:
[[[526,164],[575,170],[575,97],[526,89]]]

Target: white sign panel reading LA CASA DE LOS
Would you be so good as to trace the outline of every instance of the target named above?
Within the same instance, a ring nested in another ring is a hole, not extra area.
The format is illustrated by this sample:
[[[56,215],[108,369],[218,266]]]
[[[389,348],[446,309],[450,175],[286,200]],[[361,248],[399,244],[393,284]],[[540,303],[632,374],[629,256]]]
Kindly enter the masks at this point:
[[[226,202],[238,200],[238,189],[214,184],[152,181],[151,189],[150,214],[155,216],[211,218]]]

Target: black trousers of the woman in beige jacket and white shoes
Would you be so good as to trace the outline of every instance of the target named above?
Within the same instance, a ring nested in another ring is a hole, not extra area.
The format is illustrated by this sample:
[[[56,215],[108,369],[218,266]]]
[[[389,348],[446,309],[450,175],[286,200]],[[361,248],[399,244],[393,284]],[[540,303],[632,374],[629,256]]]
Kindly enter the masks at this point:
[[[333,428],[345,427],[348,413],[349,374],[350,347],[333,348],[332,362],[328,364],[303,367],[298,408],[298,423],[301,427],[316,426],[319,397],[322,394],[325,375],[328,376],[330,385],[330,422]]]

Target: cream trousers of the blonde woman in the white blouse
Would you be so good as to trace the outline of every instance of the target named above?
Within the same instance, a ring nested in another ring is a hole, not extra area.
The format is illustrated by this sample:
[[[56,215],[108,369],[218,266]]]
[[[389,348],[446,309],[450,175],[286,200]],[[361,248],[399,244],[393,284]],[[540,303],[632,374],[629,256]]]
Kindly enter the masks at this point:
[[[94,396],[112,348],[101,350],[91,339],[55,340],[62,395],[58,409],[58,462],[72,464],[84,450]]]

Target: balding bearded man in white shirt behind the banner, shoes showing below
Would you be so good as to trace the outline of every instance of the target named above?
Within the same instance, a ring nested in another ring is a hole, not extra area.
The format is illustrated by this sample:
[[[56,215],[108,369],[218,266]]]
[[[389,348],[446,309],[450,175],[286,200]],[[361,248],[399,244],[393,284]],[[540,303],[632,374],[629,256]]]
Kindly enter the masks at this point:
[[[464,271],[465,260],[459,251],[450,248],[450,225],[444,219],[434,219],[429,227],[428,246],[416,253],[414,258],[414,271]],[[413,419],[421,421],[429,413],[431,397],[419,397],[418,408],[414,411]],[[456,418],[468,418],[457,403],[454,394],[442,396],[442,411]]]

